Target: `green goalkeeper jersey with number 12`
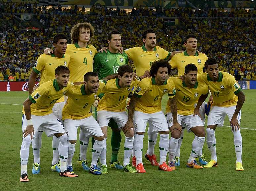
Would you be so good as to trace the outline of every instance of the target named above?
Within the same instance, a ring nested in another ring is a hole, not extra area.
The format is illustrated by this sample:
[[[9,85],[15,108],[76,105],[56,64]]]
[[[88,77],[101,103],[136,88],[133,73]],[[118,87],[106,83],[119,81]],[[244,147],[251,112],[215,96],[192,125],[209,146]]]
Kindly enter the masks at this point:
[[[102,79],[118,73],[119,67],[128,63],[128,56],[125,53],[112,53],[107,50],[107,53],[98,52],[93,60],[93,71],[98,73],[99,79]]]

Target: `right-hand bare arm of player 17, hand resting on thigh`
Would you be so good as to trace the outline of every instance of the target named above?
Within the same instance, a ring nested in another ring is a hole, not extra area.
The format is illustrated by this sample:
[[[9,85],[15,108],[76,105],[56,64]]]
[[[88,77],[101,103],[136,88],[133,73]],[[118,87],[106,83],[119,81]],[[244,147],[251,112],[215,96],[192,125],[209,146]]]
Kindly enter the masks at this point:
[[[240,128],[238,120],[237,120],[237,116],[238,116],[238,114],[243,106],[243,103],[245,101],[245,95],[244,95],[243,91],[240,91],[238,94],[236,94],[236,96],[238,97],[238,101],[236,104],[235,112],[230,120],[230,126],[232,126],[232,131],[234,130],[234,127],[235,127],[235,131],[239,130],[239,128]]]

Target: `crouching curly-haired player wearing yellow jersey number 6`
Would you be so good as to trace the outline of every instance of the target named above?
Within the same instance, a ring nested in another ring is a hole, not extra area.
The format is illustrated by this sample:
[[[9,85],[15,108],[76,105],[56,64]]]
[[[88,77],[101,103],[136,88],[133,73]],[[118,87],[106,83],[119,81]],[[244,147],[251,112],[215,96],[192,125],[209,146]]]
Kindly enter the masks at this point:
[[[168,93],[171,102],[173,115],[173,127],[181,130],[177,122],[177,105],[175,101],[175,87],[171,80],[167,80],[171,66],[168,61],[159,60],[153,62],[150,68],[151,78],[144,78],[140,81],[134,95],[130,101],[128,121],[124,126],[124,131],[134,127],[134,151],[136,157],[136,170],[145,173],[142,163],[143,138],[147,122],[152,133],[160,134],[159,170],[172,171],[166,164],[166,155],[169,146],[169,129],[166,118],[161,108],[161,100],[164,94]],[[135,111],[134,111],[135,110]]]

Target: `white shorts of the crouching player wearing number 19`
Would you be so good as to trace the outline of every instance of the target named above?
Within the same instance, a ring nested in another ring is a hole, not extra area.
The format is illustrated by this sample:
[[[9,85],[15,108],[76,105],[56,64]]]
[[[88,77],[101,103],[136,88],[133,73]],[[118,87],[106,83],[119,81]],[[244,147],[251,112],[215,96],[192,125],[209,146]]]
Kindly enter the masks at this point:
[[[169,127],[171,127],[173,125],[172,113],[171,112],[166,113],[166,117],[167,117],[167,123]],[[177,121],[182,127],[185,127],[188,132],[191,132],[190,128],[192,127],[204,126],[202,119],[198,115],[195,115],[193,117],[193,114],[191,115],[177,114]]]

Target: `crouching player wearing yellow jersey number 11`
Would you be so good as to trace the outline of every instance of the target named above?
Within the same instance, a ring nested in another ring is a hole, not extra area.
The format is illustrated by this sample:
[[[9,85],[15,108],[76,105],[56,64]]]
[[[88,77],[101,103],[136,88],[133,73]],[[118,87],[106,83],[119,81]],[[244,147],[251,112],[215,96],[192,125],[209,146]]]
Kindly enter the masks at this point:
[[[139,82],[139,78],[133,80],[133,69],[129,65],[122,65],[118,69],[118,78],[109,80],[102,90],[105,94],[97,107],[97,121],[105,136],[104,146],[100,156],[102,174],[107,174],[106,140],[108,123],[110,119],[113,119],[117,123],[118,128],[123,130],[128,120],[125,112],[126,98],[132,92],[132,87],[138,85]],[[130,165],[134,140],[133,129],[129,132],[123,132],[125,134],[123,171],[137,173],[132,165]]]

